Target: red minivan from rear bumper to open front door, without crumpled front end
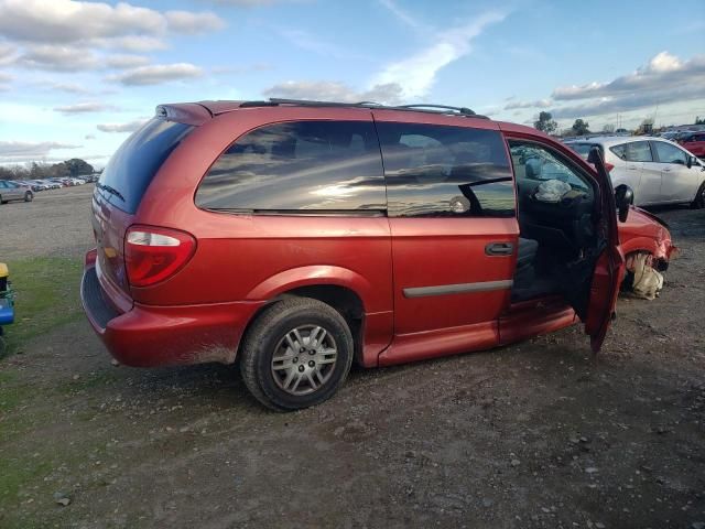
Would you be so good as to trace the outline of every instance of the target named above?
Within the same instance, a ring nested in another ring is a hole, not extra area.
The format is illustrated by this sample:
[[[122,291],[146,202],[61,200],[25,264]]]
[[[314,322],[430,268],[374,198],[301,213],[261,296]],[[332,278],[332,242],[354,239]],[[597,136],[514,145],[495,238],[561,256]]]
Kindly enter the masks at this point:
[[[265,406],[351,363],[487,349],[582,321],[598,350],[629,190],[465,108],[163,105],[106,166],[82,299],[130,366],[239,360]]]

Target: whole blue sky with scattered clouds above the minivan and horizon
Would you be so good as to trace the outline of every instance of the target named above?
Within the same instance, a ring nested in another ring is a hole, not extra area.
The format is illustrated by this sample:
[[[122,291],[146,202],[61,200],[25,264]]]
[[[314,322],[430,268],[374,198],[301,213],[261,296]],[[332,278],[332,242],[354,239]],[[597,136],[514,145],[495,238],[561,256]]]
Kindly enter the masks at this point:
[[[702,0],[0,0],[0,163],[102,166],[160,102],[440,102],[593,130],[705,116]]]

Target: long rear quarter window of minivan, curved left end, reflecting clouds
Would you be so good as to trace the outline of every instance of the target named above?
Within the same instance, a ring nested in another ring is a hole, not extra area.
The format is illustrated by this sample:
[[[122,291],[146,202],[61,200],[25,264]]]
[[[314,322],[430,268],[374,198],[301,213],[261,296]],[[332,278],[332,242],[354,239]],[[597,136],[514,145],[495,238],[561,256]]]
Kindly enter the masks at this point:
[[[292,121],[239,138],[196,193],[206,209],[382,210],[384,179],[369,121]]]

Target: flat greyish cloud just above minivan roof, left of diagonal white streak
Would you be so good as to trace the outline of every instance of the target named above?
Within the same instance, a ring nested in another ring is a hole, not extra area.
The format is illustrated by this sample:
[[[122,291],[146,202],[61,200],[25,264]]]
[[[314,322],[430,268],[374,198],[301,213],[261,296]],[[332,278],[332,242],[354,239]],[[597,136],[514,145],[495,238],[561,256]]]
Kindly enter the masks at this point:
[[[376,101],[388,105],[400,102],[402,88],[395,84],[376,85],[369,90],[358,91],[338,82],[294,82],[280,83],[262,94],[267,97],[285,99],[307,99],[340,102]]]

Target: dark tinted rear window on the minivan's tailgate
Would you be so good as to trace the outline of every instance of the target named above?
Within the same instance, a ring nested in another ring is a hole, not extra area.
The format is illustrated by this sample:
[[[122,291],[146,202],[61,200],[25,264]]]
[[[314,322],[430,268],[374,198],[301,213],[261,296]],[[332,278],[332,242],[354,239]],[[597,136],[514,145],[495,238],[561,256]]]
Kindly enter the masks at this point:
[[[97,192],[118,209],[137,212],[159,168],[193,129],[191,125],[151,119],[112,154],[96,184]]]

